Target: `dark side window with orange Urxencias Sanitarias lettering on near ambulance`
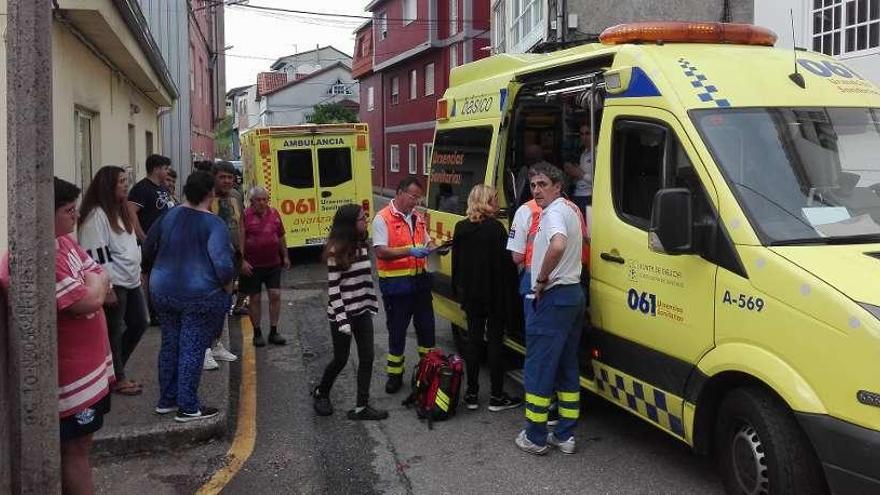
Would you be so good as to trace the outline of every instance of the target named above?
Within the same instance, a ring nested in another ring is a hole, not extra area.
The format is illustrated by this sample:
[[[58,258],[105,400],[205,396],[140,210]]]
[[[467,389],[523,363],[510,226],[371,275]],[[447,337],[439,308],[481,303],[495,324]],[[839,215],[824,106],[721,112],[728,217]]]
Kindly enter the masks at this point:
[[[427,207],[464,215],[474,184],[486,179],[491,126],[438,131],[431,157],[431,186]]]

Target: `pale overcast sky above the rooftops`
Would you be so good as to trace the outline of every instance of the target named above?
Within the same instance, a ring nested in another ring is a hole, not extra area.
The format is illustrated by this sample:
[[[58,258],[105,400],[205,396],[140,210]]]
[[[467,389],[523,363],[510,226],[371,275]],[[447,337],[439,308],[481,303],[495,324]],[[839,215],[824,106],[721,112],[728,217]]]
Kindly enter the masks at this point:
[[[251,0],[251,5],[334,14],[367,15],[368,0]],[[332,7],[330,7],[332,5]],[[269,70],[285,55],[333,45],[351,55],[359,19],[271,13],[230,6],[226,8],[226,89],[254,84],[257,73]]]

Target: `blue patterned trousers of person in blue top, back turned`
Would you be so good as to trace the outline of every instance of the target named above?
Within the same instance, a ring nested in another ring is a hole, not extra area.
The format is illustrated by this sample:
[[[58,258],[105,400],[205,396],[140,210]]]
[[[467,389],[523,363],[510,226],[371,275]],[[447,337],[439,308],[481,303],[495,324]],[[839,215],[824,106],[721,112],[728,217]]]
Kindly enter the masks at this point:
[[[223,328],[230,296],[219,292],[197,302],[153,293],[153,304],[162,328],[159,349],[159,407],[197,413],[199,381],[205,349]]]

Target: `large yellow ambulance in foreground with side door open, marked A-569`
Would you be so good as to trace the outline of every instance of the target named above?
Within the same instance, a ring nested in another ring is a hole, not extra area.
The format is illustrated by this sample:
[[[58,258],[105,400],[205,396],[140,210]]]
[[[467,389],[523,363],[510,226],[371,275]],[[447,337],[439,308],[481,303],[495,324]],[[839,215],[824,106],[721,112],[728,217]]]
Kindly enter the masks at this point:
[[[590,126],[582,386],[715,454],[730,493],[880,493],[880,90],[775,40],[635,23],[453,69],[430,229],[449,239],[477,183],[512,218],[525,148],[577,160]],[[435,309],[465,327],[449,269]]]

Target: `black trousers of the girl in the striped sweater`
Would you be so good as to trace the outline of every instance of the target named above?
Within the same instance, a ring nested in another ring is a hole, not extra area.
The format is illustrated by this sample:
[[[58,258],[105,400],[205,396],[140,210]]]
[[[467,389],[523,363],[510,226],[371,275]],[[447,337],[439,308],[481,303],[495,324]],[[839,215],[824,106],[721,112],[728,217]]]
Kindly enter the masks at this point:
[[[351,349],[351,337],[354,336],[358,349],[357,406],[367,405],[370,399],[370,377],[373,375],[373,315],[361,313],[351,318],[351,335],[337,330],[337,325],[330,323],[330,336],[333,338],[333,360],[324,369],[324,376],[318,391],[323,396],[330,395],[336,376],[348,363]]]

